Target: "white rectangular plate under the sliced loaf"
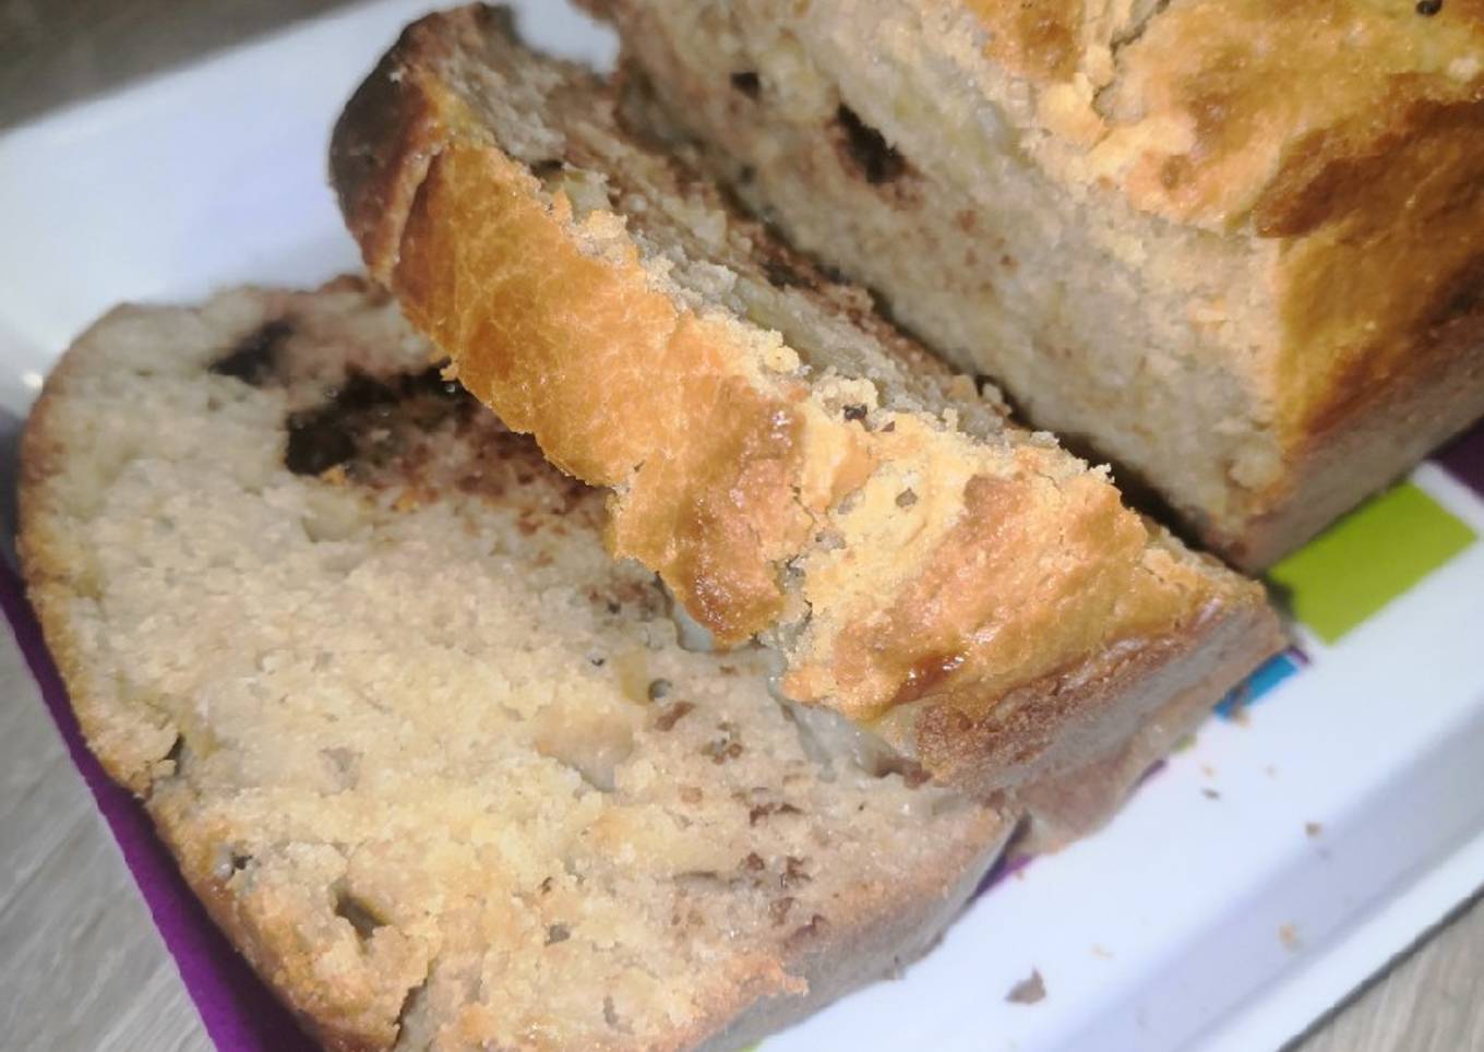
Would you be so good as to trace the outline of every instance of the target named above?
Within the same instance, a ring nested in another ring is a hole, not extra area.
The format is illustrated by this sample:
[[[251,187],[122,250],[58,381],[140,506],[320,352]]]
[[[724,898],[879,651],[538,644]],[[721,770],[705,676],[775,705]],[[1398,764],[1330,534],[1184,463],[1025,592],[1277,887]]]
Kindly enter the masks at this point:
[[[120,300],[353,269],[329,126],[426,6],[319,19],[0,138],[0,408],[24,415]],[[611,59],[564,3],[515,6],[536,42]],[[1413,484],[1484,533],[1484,502],[1445,470]],[[1481,625],[1475,542],[1333,645],[1304,632],[1312,663],[1211,721],[1106,832],[979,898],[902,981],[766,1048],[1281,1045],[1484,883]],[[1033,970],[1045,997],[1006,1000]]]

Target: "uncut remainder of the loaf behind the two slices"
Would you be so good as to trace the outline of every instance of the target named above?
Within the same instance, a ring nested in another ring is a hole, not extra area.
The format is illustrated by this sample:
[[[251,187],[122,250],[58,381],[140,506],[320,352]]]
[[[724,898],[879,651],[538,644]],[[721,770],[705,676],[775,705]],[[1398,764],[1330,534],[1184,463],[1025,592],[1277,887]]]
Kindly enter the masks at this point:
[[[644,123],[1255,568],[1484,414],[1478,0],[585,0]]]

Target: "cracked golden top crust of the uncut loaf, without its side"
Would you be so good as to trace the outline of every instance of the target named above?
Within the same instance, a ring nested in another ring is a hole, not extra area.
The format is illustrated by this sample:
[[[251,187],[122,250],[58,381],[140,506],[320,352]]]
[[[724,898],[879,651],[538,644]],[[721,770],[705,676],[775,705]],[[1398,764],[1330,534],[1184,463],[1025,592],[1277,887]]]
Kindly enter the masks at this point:
[[[1048,159],[1181,223],[1290,236],[1334,206],[1304,193],[1324,168],[1451,107],[1484,120],[1480,0],[963,3],[1073,147]]]

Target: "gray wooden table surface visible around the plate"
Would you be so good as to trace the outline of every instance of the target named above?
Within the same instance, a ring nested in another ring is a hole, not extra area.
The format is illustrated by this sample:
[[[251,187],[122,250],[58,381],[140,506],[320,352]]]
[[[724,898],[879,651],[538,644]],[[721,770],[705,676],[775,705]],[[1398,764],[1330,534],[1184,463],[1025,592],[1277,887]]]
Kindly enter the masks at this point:
[[[0,0],[0,129],[346,0]],[[0,1048],[209,1049],[113,837],[0,632]],[[1475,898],[1291,1052],[1484,1052]]]

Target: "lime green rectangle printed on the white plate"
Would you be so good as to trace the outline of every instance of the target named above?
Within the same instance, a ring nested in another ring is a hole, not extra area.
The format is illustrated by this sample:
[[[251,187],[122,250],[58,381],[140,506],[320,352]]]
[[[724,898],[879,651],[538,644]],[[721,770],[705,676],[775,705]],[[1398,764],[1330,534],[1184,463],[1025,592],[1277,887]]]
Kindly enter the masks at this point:
[[[1336,642],[1472,542],[1468,525],[1404,482],[1356,507],[1267,577],[1287,589],[1298,620]]]

